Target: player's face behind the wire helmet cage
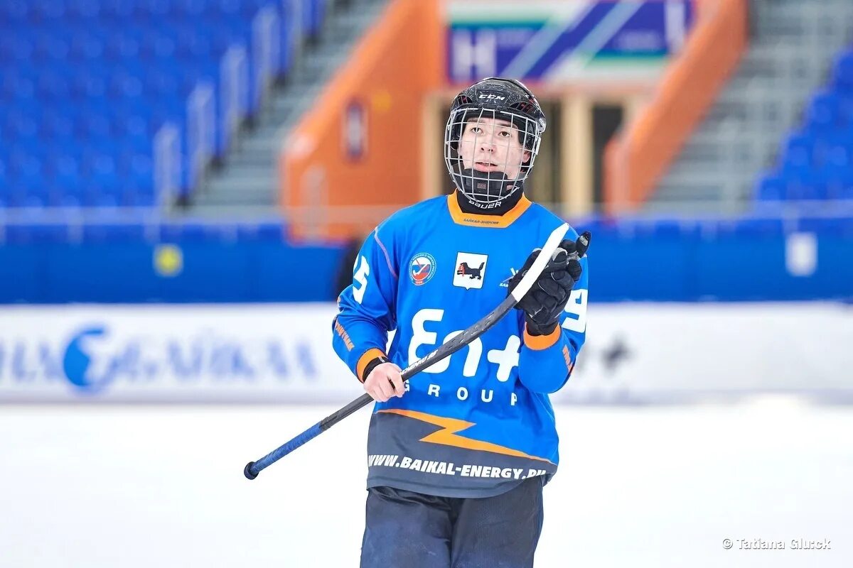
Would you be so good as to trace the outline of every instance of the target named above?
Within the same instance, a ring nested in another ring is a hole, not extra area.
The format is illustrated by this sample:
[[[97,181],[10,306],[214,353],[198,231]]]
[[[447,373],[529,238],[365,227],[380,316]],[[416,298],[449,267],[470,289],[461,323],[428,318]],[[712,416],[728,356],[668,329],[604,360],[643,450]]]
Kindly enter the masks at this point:
[[[522,146],[519,129],[506,120],[481,117],[465,123],[459,141],[459,156],[465,168],[480,172],[503,172],[508,179],[519,176],[531,158]]]

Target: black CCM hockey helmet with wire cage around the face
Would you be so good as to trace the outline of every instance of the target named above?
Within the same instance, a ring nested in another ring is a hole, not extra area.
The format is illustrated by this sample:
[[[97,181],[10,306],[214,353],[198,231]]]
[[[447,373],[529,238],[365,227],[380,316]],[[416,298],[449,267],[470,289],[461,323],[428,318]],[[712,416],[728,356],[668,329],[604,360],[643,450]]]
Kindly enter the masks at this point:
[[[506,172],[482,172],[465,168],[459,155],[459,142],[465,125],[480,118],[511,123],[529,159],[520,164],[503,164],[504,169],[517,169],[510,177]],[[523,83],[515,79],[488,77],[464,89],[450,105],[450,117],[444,132],[444,162],[456,187],[468,201],[481,208],[491,208],[523,189],[533,161],[539,152],[547,122],[539,101]]]

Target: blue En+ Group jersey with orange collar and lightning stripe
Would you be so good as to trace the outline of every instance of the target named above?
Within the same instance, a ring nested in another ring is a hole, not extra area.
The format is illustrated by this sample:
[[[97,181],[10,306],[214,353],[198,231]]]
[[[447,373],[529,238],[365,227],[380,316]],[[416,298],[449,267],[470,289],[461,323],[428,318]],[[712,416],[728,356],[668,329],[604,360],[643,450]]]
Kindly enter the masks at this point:
[[[465,213],[455,194],[398,211],[369,235],[339,296],[335,352],[357,376],[379,354],[405,369],[497,307],[509,278],[561,223],[524,197],[504,215]],[[413,376],[402,398],[374,405],[368,487],[494,496],[554,474],[548,393],[566,383],[583,346],[586,257],[581,265],[553,334],[529,336],[524,313],[513,310]]]

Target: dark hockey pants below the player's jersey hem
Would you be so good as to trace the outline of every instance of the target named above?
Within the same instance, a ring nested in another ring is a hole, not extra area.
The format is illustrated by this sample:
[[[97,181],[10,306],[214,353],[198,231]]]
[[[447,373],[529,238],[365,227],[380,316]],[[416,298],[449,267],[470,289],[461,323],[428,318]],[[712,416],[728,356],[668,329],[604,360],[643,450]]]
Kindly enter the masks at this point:
[[[374,487],[361,568],[528,568],[542,523],[540,478],[482,498]]]

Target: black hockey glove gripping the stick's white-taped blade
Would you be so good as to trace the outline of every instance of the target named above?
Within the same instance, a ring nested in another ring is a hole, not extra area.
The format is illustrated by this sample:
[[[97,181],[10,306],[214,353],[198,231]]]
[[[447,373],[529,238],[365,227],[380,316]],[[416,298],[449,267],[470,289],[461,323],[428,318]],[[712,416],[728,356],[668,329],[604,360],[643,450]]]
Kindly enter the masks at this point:
[[[557,327],[560,313],[566,308],[572,288],[581,278],[582,268],[579,259],[586,254],[590,237],[587,231],[580,235],[577,241],[566,239],[561,242],[543,273],[515,306],[525,311],[527,331],[531,336],[547,336]],[[524,278],[539,252],[540,249],[531,252],[521,270],[510,278],[509,291],[519,284],[521,278]]]

